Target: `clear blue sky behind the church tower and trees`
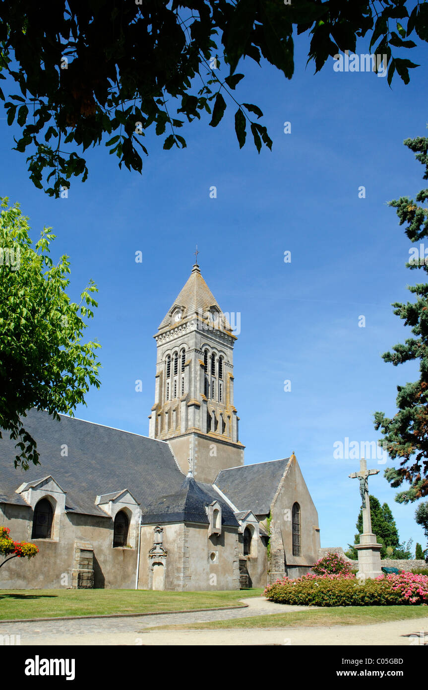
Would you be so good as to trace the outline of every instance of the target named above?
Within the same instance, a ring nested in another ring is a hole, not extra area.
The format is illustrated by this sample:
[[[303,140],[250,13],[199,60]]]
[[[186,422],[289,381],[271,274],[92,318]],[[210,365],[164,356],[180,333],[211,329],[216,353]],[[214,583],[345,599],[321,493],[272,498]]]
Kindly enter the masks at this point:
[[[306,49],[298,37],[291,81],[249,62],[236,90],[240,102],[263,110],[272,152],[258,155],[249,135],[239,150],[231,104],[216,129],[207,118],[183,128],[185,150],[164,151],[163,137],[146,137],[143,175],[119,170],[104,147],[87,151],[88,181],[73,181],[68,199],[50,199],[28,180],[26,156],[11,150],[12,131],[1,119],[0,193],[21,203],[34,239],[52,226],[53,257],[65,253],[72,262],[73,299],[89,278],[99,286],[86,333],[102,345],[102,387],[76,412],[92,422],[147,435],[152,335],[190,275],[198,244],[218,303],[241,313],[234,393],[245,462],[294,451],[318,509],[321,545],[345,548],[360,507],[358,483],[347,475],[358,462],[336,460],[334,443],[377,440],[374,411],[394,415],[396,386],[417,371],[380,355],[410,333],[390,304],[407,300],[406,285],[416,282],[405,268],[411,243],[387,201],[424,186],[422,166],[402,141],[425,135],[427,70],[411,70],[408,86],[394,77],[392,88],[373,73],[334,72],[333,61],[314,75]],[[368,463],[380,469],[370,493],[391,506],[400,539],[413,538],[413,549],[424,544],[416,504],[394,502],[383,478],[391,462]]]

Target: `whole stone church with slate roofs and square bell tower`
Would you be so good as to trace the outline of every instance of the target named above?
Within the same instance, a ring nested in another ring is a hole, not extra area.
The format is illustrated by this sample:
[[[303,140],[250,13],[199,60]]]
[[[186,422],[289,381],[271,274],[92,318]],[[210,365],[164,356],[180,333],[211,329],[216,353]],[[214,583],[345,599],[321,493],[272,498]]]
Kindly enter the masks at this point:
[[[3,433],[0,524],[39,553],[0,588],[207,591],[310,569],[318,513],[296,456],[244,464],[230,321],[194,264],[154,335],[148,437],[32,410],[41,464],[23,472]]]

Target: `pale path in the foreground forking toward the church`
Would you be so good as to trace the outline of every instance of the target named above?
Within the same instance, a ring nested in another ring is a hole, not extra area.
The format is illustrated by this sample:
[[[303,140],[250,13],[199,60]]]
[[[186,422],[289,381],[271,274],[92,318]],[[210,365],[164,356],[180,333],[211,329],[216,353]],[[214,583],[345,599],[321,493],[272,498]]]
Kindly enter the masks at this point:
[[[401,635],[428,632],[428,618],[376,623],[373,625],[332,626],[320,628],[230,629],[230,630],[150,630],[161,625],[179,625],[214,620],[232,620],[250,615],[269,615],[287,611],[305,611],[309,607],[274,604],[263,598],[243,599],[247,609],[198,611],[136,618],[92,618],[50,620],[33,623],[5,623],[0,635],[21,635],[21,645],[325,645],[325,644],[396,644],[409,645],[423,638]],[[314,607],[312,607],[314,608]],[[427,640],[427,638],[425,638]],[[428,640],[427,640],[428,641]]]

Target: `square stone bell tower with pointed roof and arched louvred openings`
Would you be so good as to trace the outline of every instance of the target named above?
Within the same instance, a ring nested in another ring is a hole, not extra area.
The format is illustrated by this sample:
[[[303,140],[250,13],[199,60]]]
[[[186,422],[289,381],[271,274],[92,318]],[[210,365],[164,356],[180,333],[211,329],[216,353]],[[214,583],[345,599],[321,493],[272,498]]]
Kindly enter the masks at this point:
[[[154,335],[156,388],[149,435],[170,442],[181,471],[191,469],[199,482],[212,483],[222,469],[244,464],[230,320],[196,263]]]

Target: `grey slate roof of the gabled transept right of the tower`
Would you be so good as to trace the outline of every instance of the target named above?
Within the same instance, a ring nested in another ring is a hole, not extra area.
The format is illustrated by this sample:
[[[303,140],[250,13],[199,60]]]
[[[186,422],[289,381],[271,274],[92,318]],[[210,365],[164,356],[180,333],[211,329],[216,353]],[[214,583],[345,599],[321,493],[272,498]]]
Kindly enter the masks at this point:
[[[289,457],[285,457],[222,470],[214,484],[239,511],[268,515],[288,461]]]

